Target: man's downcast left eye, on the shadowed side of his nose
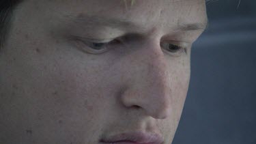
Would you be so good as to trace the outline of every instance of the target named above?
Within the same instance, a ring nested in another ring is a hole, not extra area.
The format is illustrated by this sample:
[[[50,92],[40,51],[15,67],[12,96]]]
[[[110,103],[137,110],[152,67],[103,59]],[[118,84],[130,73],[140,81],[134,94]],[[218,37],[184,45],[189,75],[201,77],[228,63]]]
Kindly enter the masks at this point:
[[[111,40],[109,42],[89,42],[87,40],[82,41],[83,43],[83,51],[91,54],[101,54],[105,53],[106,51],[111,48],[114,44],[119,44],[119,40]]]

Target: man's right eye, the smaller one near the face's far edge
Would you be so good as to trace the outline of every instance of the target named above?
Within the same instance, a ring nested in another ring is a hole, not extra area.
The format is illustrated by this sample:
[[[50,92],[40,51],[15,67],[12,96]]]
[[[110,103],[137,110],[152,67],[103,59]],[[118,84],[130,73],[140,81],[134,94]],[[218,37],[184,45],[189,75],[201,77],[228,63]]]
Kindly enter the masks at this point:
[[[186,53],[186,47],[177,44],[171,44],[170,42],[161,42],[160,46],[168,51],[173,56],[180,56],[182,53]]]

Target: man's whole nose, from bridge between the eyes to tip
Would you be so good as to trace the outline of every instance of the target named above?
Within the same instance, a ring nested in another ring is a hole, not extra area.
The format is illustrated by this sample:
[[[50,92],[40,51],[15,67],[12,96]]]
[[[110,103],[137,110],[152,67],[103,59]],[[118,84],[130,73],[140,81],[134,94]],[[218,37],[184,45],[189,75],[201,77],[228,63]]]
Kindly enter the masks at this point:
[[[157,44],[143,44],[132,53],[126,69],[130,83],[122,92],[126,107],[139,108],[156,119],[171,113],[171,87],[167,59]]]

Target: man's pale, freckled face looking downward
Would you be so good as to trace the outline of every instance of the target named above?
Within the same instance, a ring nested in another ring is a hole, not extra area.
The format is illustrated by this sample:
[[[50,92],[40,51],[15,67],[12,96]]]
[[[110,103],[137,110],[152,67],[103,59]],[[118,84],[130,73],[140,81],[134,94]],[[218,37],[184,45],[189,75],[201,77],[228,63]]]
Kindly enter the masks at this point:
[[[0,143],[96,144],[126,132],[171,143],[205,2],[127,2],[19,5],[0,53]]]

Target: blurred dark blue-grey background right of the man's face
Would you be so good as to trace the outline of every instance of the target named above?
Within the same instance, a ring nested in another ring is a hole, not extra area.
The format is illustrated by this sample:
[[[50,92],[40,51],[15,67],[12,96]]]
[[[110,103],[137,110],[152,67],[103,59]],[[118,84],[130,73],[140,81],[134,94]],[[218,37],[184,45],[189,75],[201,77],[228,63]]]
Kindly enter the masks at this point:
[[[256,0],[207,2],[173,144],[256,144]]]

